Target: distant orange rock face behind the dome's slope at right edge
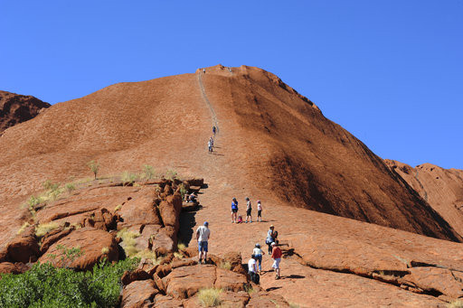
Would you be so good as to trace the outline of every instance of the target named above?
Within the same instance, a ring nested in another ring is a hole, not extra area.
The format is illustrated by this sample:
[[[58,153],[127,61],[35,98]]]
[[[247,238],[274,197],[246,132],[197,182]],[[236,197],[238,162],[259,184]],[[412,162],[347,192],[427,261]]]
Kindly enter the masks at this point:
[[[430,163],[415,168],[392,160],[385,163],[463,235],[463,170],[443,169]]]

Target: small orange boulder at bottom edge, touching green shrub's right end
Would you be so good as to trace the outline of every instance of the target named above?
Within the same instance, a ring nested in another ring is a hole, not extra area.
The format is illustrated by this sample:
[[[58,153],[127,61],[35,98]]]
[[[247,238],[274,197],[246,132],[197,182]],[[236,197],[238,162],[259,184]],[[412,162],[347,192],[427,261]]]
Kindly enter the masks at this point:
[[[122,291],[121,308],[141,308],[148,307],[149,303],[153,303],[156,294],[159,291],[156,289],[152,280],[138,280],[130,285],[124,286]]]

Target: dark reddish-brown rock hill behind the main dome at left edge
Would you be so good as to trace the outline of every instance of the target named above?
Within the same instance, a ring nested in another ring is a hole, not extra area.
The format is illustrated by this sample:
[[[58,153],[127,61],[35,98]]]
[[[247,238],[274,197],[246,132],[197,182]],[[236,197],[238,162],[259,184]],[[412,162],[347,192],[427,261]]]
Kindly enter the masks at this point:
[[[8,127],[30,120],[51,105],[32,96],[0,91],[0,134]]]

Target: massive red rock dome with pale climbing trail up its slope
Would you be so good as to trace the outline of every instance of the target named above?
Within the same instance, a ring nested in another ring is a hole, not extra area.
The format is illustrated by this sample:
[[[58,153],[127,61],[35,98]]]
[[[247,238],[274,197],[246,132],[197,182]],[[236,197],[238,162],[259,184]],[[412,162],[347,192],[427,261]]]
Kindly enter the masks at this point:
[[[213,125],[222,141],[208,154]],[[277,76],[246,66],[119,83],[56,104],[5,131],[0,157],[5,206],[46,179],[88,176],[96,159],[101,174],[147,163],[231,194],[461,239],[354,135]]]

